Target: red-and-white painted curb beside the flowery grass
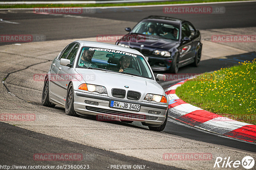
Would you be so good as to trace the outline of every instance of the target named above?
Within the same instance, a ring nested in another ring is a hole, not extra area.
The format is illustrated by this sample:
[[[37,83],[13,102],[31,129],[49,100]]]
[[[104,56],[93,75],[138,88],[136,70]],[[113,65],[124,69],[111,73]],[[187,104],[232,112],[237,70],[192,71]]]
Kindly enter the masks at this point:
[[[188,79],[164,90],[169,97],[168,116],[199,129],[255,143],[256,125],[222,117],[181,100],[175,90],[186,81]]]

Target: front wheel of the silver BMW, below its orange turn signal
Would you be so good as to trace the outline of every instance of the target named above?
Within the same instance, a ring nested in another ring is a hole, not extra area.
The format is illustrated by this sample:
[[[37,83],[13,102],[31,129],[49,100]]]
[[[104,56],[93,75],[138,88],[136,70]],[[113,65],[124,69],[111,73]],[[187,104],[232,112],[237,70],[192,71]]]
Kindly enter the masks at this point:
[[[70,84],[68,87],[67,91],[67,99],[65,103],[65,113],[66,115],[69,116],[76,116],[78,117],[79,115],[76,114],[76,111],[74,110],[74,90],[73,90],[73,85]]]

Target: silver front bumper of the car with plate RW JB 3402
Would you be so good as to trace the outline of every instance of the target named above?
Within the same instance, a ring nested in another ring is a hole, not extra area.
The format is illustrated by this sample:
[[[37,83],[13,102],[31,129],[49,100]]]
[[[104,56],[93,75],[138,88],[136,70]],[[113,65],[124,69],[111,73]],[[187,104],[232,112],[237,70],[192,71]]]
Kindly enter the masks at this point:
[[[84,103],[85,100],[98,102],[98,105]],[[140,111],[124,110],[109,107],[111,100],[117,102],[140,104]],[[164,123],[168,105],[120,100],[108,96],[95,95],[74,90],[74,110],[79,114],[100,115],[121,120],[145,122],[161,125]],[[148,113],[149,110],[160,111],[159,115]]]

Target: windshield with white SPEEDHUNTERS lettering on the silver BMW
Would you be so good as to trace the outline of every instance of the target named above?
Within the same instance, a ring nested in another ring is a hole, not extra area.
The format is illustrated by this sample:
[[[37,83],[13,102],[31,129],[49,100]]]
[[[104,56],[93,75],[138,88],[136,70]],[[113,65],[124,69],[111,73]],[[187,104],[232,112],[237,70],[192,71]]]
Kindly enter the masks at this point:
[[[83,47],[76,67],[123,72],[154,80],[150,68],[142,56],[114,49]]]

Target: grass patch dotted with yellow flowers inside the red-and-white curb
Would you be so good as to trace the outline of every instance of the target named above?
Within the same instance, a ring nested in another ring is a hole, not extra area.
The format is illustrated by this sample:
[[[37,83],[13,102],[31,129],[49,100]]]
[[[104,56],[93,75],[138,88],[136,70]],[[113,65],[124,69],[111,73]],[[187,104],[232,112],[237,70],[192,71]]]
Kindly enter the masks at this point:
[[[256,124],[256,60],[205,73],[177,88],[185,102],[237,121]]]

